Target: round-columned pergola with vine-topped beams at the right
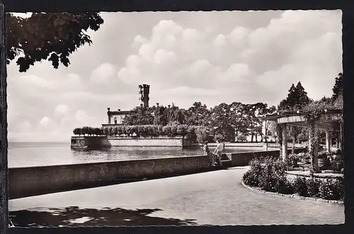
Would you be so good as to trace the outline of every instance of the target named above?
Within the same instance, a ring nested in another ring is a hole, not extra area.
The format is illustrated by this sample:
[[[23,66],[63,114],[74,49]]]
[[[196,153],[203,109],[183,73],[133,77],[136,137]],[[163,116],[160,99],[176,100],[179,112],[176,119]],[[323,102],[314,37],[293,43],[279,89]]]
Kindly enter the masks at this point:
[[[282,159],[287,159],[287,126],[297,126],[309,129],[309,152],[312,157],[312,166],[315,172],[319,171],[319,142],[317,140],[318,130],[326,132],[326,150],[331,153],[331,132],[337,133],[339,147],[343,140],[343,114],[341,110],[324,110],[319,118],[309,120],[301,111],[266,114],[260,117],[263,121],[275,121],[278,126],[278,134],[281,134],[280,154]],[[333,124],[335,123],[335,124]],[[334,128],[333,126],[338,126]]]

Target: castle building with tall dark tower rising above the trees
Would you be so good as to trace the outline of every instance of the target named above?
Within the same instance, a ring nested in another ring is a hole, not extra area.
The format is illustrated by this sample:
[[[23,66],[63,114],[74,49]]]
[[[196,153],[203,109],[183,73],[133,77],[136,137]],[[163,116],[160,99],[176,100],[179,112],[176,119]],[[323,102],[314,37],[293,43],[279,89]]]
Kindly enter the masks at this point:
[[[148,84],[140,84],[139,85],[139,101],[140,106],[149,107],[149,91],[150,86]],[[114,125],[121,125],[123,123],[123,119],[127,116],[130,111],[110,111],[108,108],[107,116],[108,116],[108,123],[103,123],[102,126],[114,126]]]

